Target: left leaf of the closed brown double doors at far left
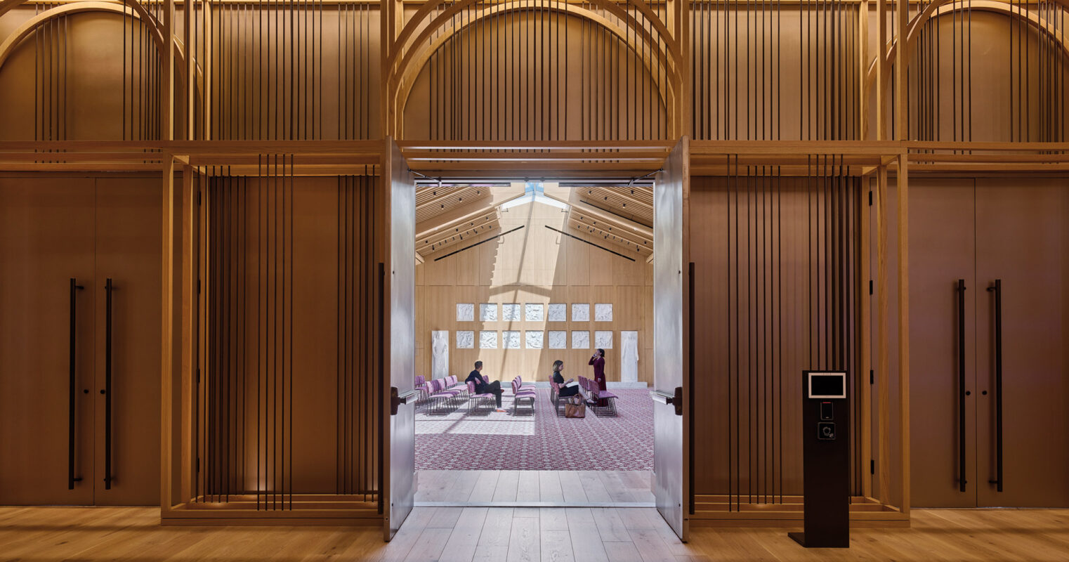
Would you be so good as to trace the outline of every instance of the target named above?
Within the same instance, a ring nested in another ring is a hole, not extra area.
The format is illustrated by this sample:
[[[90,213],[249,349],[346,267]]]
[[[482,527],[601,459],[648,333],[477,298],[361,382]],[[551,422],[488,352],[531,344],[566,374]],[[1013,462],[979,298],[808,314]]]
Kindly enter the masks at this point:
[[[93,503],[93,199],[0,177],[0,504]]]

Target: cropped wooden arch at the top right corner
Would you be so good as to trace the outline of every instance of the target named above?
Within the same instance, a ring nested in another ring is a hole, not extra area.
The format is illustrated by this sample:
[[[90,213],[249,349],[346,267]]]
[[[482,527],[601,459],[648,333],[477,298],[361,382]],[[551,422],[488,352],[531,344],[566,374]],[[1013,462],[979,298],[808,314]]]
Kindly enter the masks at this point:
[[[1060,5],[1063,10],[1069,10],[1069,0],[1054,0],[1055,3]],[[916,48],[917,40],[920,37],[923,27],[930,19],[934,19],[947,14],[955,12],[963,12],[967,9],[978,10],[981,12],[992,12],[996,14],[1003,14],[1008,17],[1019,17],[1023,18],[1029,26],[1036,28],[1040,33],[1047,33],[1054,42],[1062,48],[1062,51],[1069,56],[1069,47],[1067,47],[1065,42],[1065,36],[1060,31],[1058,31],[1049,21],[1045,21],[1039,15],[1034,14],[1027,10],[1023,10],[1019,5],[1013,5],[1009,0],[973,0],[969,5],[958,5],[958,0],[936,0],[931,4],[928,4],[923,12],[917,14],[916,17],[910,22],[907,28],[905,33],[905,60],[910,60],[910,56],[913,54],[913,50]],[[895,61],[895,56],[898,50],[898,41],[892,41],[887,44],[887,52],[884,61],[886,62],[886,72],[890,72],[890,65]],[[866,91],[870,91],[872,82],[876,80],[876,73],[878,69],[879,59],[873,58],[872,62],[869,64],[868,72],[865,75],[865,85]]]

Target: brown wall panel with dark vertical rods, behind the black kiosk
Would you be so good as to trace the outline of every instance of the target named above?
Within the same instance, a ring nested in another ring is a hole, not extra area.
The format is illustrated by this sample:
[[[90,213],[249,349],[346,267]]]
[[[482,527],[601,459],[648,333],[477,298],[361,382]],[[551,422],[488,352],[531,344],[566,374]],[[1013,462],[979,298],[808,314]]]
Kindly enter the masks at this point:
[[[854,333],[855,179],[745,175],[691,184],[697,494],[778,503],[801,493],[801,373],[850,374],[851,486],[862,468]]]

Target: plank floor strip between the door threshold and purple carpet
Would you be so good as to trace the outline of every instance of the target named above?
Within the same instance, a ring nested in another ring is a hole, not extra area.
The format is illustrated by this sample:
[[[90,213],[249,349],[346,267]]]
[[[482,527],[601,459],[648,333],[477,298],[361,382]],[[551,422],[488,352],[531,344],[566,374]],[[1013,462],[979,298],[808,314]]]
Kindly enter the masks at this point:
[[[416,502],[556,502],[566,506],[652,505],[648,470],[418,470]],[[484,505],[491,506],[491,505]]]

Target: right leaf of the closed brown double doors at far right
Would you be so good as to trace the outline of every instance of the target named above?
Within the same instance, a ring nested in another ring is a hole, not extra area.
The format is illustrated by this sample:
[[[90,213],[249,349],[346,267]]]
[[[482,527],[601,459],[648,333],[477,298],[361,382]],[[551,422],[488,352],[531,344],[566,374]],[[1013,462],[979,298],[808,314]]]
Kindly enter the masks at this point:
[[[977,181],[976,489],[980,506],[1069,506],[1066,184],[1065,179]],[[1001,291],[995,290],[996,281]],[[996,314],[1000,296],[1001,317]],[[1000,457],[1002,486],[997,482]]]

